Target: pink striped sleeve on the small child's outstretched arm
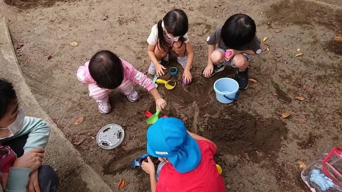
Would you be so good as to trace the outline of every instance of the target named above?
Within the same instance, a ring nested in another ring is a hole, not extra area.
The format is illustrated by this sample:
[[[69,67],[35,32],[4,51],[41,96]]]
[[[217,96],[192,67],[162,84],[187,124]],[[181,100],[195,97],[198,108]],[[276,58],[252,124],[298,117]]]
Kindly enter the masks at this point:
[[[124,75],[128,79],[132,80],[136,84],[146,88],[148,91],[154,88],[154,84],[152,80],[147,77],[145,74],[136,70],[131,64],[129,64],[124,59],[121,59],[122,65],[124,67]]]

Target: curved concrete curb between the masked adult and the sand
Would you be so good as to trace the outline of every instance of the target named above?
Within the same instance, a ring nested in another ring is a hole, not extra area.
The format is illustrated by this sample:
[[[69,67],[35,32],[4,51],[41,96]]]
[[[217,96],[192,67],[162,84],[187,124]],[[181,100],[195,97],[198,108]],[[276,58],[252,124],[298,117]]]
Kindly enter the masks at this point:
[[[22,75],[3,16],[0,16],[0,51],[0,77],[14,84],[26,115],[42,118],[51,125],[50,140],[44,159],[47,164],[57,169],[60,181],[66,180],[66,184],[61,183],[63,189],[59,188],[59,191],[112,192],[100,175],[85,163],[79,152],[65,138],[33,96]]]

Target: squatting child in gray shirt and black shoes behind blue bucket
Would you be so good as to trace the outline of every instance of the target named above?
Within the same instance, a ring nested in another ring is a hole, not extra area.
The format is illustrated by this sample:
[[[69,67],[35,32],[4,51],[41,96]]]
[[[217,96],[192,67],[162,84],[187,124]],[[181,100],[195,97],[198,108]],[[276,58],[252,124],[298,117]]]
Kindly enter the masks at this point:
[[[239,88],[247,89],[249,61],[262,52],[254,20],[245,14],[235,14],[207,38],[207,43],[208,65],[202,75],[209,78],[232,66],[237,68]]]

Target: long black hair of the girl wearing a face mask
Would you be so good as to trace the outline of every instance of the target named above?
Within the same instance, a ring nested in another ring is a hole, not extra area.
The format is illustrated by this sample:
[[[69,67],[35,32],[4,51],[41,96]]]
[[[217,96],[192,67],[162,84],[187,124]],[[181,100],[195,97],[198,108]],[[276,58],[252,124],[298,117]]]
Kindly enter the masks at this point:
[[[183,42],[185,39],[183,36],[188,32],[189,29],[189,22],[188,17],[184,13],[184,11],[180,9],[173,9],[169,11],[162,20],[159,20],[157,23],[158,27],[158,39],[159,39],[159,47],[158,49],[160,51],[168,51],[168,41],[165,39],[167,37],[164,37],[164,30],[162,27],[162,22],[164,21],[164,27],[166,31],[171,34],[172,36],[180,36],[180,40]]]

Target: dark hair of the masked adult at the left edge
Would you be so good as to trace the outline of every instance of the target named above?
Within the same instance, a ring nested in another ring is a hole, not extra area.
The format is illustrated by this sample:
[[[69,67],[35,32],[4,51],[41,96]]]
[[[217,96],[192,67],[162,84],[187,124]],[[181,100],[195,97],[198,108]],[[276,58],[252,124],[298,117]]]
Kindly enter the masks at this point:
[[[17,94],[12,83],[0,78],[0,119],[2,119],[8,110],[8,107],[17,102]]]

